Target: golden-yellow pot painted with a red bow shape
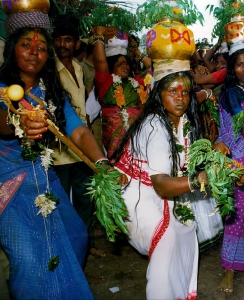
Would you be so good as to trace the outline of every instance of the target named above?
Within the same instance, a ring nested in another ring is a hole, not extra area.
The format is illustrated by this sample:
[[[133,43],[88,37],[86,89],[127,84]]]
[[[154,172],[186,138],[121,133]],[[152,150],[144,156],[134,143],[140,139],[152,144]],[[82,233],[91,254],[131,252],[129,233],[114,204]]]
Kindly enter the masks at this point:
[[[193,32],[179,21],[165,18],[147,33],[146,50],[152,60],[189,59],[195,52]]]

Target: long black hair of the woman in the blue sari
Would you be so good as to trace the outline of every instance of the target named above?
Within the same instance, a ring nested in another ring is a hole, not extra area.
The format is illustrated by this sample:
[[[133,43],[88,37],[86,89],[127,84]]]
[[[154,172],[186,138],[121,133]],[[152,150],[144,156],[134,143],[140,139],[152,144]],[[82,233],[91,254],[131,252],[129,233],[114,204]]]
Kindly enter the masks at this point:
[[[67,93],[62,88],[59,74],[56,69],[52,39],[45,29],[25,27],[17,29],[9,36],[3,52],[4,63],[0,69],[0,80],[2,80],[8,86],[12,84],[19,84],[20,86],[25,88],[25,83],[21,80],[20,70],[15,56],[15,45],[22,36],[28,34],[28,32],[33,30],[38,30],[38,32],[45,37],[47,42],[48,58],[44,67],[40,71],[39,76],[43,79],[46,88],[45,101],[49,103],[49,101],[51,100],[57,107],[54,112],[56,119],[55,123],[59,127],[59,129],[64,132],[66,121],[63,107],[65,103],[64,94]]]

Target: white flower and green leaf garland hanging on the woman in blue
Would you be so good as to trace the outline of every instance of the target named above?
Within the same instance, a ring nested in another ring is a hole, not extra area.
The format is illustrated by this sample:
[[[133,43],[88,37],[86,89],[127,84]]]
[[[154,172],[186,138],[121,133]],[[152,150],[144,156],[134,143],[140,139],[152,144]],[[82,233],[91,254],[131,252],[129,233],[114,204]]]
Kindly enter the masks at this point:
[[[45,90],[44,83],[42,79],[40,79],[39,87],[41,90]],[[44,99],[41,99],[44,101]],[[46,103],[45,103],[46,104]],[[49,112],[51,116],[54,118],[54,111],[56,107],[52,104],[51,101],[49,101],[49,105],[47,106],[49,108]],[[33,110],[38,110],[37,107],[33,107]],[[41,214],[44,220],[44,227],[45,227],[45,233],[47,238],[47,244],[48,244],[48,251],[50,255],[50,259],[48,261],[48,270],[54,271],[55,268],[59,264],[59,255],[51,257],[51,247],[50,242],[47,235],[47,228],[46,228],[46,218],[48,215],[52,214],[53,210],[57,208],[57,204],[59,203],[59,199],[55,197],[51,192],[49,188],[49,182],[48,182],[48,169],[52,165],[52,152],[53,150],[46,147],[45,140],[42,142],[37,142],[35,140],[29,140],[25,138],[24,136],[24,130],[21,128],[20,125],[20,115],[17,114],[10,114],[9,113],[9,123],[15,126],[15,136],[18,136],[21,139],[21,157],[24,160],[29,160],[32,162],[34,177],[36,181],[37,191],[38,195],[34,200],[34,204],[36,207],[39,208],[39,211],[37,215]],[[47,187],[46,187],[46,193],[40,194],[39,186],[38,186],[38,180],[35,172],[35,165],[34,162],[36,161],[37,157],[40,157],[41,159],[41,165],[43,166],[46,174],[46,181],[47,181]]]

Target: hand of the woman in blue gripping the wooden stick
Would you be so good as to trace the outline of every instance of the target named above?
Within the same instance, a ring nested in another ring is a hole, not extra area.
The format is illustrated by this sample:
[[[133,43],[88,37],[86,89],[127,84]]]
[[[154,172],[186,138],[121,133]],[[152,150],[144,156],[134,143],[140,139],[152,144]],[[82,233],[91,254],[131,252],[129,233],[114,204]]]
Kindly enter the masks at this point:
[[[30,140],[41,139],[43,133],[48,131],[48,123],[45,121],[45,119],[43,119],[43,117],[31,120],[28,115],[21,115],[20,124],[24,130],[25,138]]]

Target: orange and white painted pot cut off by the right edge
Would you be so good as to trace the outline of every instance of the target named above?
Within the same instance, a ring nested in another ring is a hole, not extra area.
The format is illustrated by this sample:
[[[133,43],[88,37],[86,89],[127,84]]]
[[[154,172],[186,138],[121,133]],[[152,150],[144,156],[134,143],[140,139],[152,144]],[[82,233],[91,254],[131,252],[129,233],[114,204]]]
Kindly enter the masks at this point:
[[[239,43],[244,38],[244,16],[235,15],[231,22],[225,25],[225,37],[228,45]]]

